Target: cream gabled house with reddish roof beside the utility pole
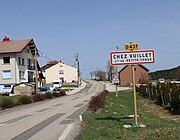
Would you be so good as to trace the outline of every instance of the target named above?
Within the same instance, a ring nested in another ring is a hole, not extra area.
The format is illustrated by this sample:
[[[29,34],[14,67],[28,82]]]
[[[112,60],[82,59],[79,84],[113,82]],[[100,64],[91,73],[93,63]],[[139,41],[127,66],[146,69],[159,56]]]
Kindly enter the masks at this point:
[[[50,61],[41,68],[45,76],[46,84],[51,84],[54,80],[61,80],[62,82],[76,82],[77,69],[64,64],[61,61]]]

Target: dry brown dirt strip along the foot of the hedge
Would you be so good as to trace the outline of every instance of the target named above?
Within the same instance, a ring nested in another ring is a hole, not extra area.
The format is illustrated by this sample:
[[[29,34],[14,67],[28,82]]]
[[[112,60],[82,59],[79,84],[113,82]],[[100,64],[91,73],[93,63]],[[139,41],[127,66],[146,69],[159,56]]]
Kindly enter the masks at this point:
[[[157,105],[154,101],[149,99],[141,99],[139,102],[141,108],[146,112],[156,114],[160,118],[166,120],[173,120],[180,122],[180,115],[172,115],[169,110],[165,109],[163,106]]]

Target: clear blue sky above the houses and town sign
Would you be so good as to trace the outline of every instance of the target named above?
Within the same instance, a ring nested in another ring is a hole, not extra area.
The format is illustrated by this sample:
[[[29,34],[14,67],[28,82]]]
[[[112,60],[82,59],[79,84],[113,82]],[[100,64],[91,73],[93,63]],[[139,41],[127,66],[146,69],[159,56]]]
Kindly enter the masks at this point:
[[[50,60],[75,65],[82,78],[107,71],[110,52],[138,43],[153,49],[154,72],[180,66],[180,0],[0,0],[0,40],[33,38],[41,66]],[[118,66],[122,69],[124,66]]]

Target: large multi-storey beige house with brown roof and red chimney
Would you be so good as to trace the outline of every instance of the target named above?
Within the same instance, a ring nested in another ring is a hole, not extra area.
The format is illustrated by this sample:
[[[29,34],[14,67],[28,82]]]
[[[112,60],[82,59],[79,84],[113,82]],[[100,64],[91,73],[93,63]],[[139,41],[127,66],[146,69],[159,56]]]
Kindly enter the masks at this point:
[[[10,40],[5,36],[0,42],[0,92],[9,92],[13,85],[21,82],[33,83],[34,62],[39,68],[37,77],[42,79],[38,61],[35,61],[37,55],[38,50],[33,39]]]

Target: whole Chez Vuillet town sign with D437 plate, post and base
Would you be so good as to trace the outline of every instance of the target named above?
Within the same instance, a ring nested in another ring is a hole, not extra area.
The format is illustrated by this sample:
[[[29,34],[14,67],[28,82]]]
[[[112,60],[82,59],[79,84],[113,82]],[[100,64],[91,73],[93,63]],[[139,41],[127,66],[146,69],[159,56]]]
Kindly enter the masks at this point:
[[[150,64],[154,63],[154,50],[138,50],[139,45],[137,43],[129,43],[124,45],[127,52],[111,52],[110,53],[110,65],[131,65],[132,69],[132,83],[133,83],[133,97],[134,97],[134,124],[124,125],[124,127],[145,127],[143,124],[138,124],[137,121],[137,100],[136,100],[136,82],[135,82],[135,64]]]

